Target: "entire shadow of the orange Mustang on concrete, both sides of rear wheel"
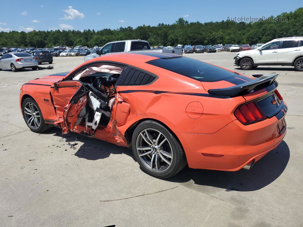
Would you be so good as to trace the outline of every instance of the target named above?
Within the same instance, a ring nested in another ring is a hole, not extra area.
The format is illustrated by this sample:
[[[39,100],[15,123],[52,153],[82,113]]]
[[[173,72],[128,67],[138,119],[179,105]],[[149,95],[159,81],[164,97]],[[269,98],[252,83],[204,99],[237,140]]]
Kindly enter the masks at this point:
[[[53,136],[58,137],[58,139],[55,139],[58,144],[64,144],[62,146],[64,149],[75,151],[73,155],[78,158],[99,160],[107,158],[111,154],[126,154],[135,161],[132,150],[127,147],[117,146],[95,138],[88,138],[73,132],[62,135],[62,130],[58,128],[51,128],[43,134],[53,134]],[[67,145],[68,142],[72,144],[82,142],[83,145],[75,145],[77,148],[73,150]],[[60,148],[61,150],[62,147]],[[251,170],[240,169],[236,172],[229,172],[191,169],[186,166],[178,174],[165,180],[182,184],[193,181],[195,185],[235,191],[255,191],[275,181],[283,173],[289,156],[288,145],[283,140],[275,150],[270,151],[256,162]]]

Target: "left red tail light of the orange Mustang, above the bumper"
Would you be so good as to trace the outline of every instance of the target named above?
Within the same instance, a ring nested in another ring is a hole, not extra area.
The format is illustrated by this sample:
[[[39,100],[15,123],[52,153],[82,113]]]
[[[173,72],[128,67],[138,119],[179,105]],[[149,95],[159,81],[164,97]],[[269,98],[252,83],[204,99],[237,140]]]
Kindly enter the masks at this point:
[[[252,124],[266,119],[256,101],[239,106],[235,110],[235,116],[242,124]]]

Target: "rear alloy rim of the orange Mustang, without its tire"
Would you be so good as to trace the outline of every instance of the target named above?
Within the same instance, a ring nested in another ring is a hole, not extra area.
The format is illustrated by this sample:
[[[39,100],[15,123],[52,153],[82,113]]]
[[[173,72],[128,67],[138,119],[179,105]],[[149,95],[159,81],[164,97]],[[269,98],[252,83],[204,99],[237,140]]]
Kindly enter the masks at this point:
[[[136,147],[139,158],[147,169],[159,173],[171,166],[171,144],[160,131],[152,128],[142,130],[138,135]]]

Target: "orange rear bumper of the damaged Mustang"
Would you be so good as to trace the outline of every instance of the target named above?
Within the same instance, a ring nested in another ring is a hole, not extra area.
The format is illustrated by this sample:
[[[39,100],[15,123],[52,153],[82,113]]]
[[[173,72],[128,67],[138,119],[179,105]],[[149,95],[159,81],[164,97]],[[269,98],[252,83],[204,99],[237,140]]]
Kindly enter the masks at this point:
[[[251,125],[234,120],[213,134],[176,133],[186,154],[188,166],[194,169],[237,171],[252,160],[258,161],[275,149],[286,134],[280,134],[278,122],[285,115]],[[211,157],[211,155],[219,155]]]

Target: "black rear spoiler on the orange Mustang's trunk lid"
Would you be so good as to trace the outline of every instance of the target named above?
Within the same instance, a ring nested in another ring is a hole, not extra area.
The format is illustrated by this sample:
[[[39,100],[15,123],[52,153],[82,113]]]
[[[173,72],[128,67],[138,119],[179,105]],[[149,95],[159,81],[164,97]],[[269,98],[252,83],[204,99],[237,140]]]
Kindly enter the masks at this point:
[[[248,94],[252,90],[261,90],[269,85],[273,84],[278,77],[279,73],[270,74],[258,74],[258,78],[252,81],[245,82],[243,84],[235,85],[232,87],[210,89],[209,94],[224,95],[224,96],[235,96],[241,94]],[[278,86],[278,83],[276,83]]]

